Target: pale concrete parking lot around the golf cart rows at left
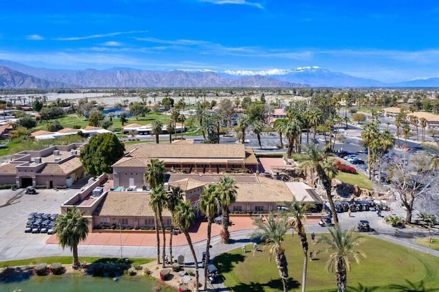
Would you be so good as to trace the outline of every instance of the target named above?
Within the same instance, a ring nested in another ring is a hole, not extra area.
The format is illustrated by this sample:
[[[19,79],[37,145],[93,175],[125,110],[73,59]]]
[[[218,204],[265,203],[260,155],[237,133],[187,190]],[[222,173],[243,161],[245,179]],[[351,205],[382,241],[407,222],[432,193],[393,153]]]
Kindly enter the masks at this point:
[[[78,187],[67,190],[37,190],[36,195],[25,194],[24,188],[16,191],[0,190],[0,258],[12,259],[26,246],[41,246],[49,239],[47,234],[25,233],[27,216],[31,212],[60,213],[60,205],[78,192]],[[35,256],[38,249],[35,249]]]

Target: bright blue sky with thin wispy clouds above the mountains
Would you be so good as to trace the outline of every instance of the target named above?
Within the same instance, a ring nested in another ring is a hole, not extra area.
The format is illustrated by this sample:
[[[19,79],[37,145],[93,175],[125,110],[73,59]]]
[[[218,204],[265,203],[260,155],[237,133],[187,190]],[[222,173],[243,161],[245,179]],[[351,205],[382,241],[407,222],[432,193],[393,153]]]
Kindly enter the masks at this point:
[[[439,76],[434,0],[0,3],[0,59],[31,66],[214,71],[320,66],[384,82]]]

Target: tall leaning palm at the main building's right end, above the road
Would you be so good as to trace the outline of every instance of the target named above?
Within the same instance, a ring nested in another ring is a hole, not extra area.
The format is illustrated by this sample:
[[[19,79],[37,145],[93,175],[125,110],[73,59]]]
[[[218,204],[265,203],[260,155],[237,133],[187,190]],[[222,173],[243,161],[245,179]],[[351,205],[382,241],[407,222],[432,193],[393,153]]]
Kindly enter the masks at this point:
[[[327,172],[324,171],[324,157],[325,154],[322,150],[318,149],[316,145],[309,145],[309,147],[306,148],[306,154],[305,154],[305,160],[302,162],[302,167],[305,169],[311,169],[312,171],[316,171],[318,178],[320,179],[320,182],[322,182],[322,185],[324,187],[324,190],[327,192],[328,202],[329,206],[331,208],[331,213],[334,218],[334,223],[338,224],[338,216],[337,212],[335,212],[335,206],[332,199],[331,191],[332,191],[332,184],[331,179],[329,178],[329,175]],[[335,169],[331,169],[331,173],[336,173],[337,171]]]

